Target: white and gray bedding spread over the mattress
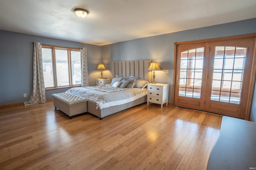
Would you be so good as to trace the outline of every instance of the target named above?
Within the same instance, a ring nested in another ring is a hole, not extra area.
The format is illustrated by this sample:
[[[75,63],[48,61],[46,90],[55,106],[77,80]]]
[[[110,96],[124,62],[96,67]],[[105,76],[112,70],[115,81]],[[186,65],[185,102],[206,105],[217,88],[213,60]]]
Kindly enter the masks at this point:
[[[111,91],[111,92],[106,92]],[[67,90],[72,94],[87,98],[88,100],[95,102],[97,108],[104,109],[111,106],[117,106],[132,102],[138,98],[147,95],[147,89],[140,88],[126,88],[113,87],[110,85],[104,86],[89,86],[76,87]]]

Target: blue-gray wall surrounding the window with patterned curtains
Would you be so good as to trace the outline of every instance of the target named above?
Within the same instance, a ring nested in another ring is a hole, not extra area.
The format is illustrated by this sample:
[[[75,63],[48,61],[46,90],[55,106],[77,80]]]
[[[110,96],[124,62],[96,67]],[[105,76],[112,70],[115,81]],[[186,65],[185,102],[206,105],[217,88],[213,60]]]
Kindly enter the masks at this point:
[[[96,70],[101,62],[101,46],[64,41],[34,35],[0,30],[0,106],[27,102],[32,92],[33,41],[62,47],[86,47],[89,85],[95,86],[100,78]],[[46,98],[67,89],[46,91]],[[23,98],[23,94],[27,98]]]

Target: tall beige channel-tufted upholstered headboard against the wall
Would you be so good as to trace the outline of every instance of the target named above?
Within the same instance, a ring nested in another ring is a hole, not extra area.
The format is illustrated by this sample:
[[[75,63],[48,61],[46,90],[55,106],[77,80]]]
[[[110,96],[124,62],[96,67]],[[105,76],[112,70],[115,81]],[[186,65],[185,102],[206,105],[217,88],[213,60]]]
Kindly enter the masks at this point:
[[[116,75],[122,77],[135,76],[151,82],[151,72],[148,71],[150,63],[151,60],[113,61],[111,65],[112,78]]]

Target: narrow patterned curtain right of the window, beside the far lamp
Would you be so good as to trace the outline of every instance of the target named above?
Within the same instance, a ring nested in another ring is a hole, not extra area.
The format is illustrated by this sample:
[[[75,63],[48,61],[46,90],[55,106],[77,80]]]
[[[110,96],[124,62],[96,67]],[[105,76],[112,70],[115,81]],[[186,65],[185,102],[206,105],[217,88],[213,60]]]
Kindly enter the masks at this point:
[[[89,80],[88,80],[88,66],[87,66],[87,52],[86,48],[80,49],[81,53],[81,86],[88,86]]]

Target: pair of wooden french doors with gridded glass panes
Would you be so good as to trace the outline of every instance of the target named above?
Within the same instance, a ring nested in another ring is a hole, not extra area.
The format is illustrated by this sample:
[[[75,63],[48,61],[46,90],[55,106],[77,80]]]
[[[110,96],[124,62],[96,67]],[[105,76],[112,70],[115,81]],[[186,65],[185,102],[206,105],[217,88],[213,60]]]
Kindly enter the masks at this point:
[[[254,43],[255,37],[177,45],[174,106],[245,119]]]

